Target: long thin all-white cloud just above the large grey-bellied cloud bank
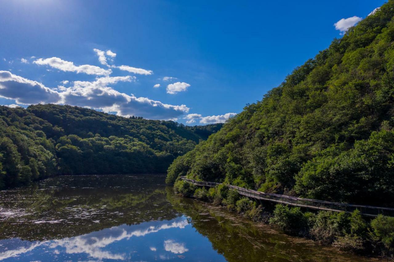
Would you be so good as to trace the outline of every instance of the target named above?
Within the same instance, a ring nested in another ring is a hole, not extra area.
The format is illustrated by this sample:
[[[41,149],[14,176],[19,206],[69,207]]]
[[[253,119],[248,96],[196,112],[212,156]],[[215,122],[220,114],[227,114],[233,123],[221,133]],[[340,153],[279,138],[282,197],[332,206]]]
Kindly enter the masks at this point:
[[[76,73],[85,73],[88,75],[97,75],[97,76],[108,76],[112,73],[111,69],[105,70],[100,68],[99,66],[93,65],[80,65],[76,66],[74,63],[62,60],[58,57],[51,57],[51,58],[40,58],[33,62],[37,65],[48,65],[52,68],[56,68],[65,72],[76,72]]]

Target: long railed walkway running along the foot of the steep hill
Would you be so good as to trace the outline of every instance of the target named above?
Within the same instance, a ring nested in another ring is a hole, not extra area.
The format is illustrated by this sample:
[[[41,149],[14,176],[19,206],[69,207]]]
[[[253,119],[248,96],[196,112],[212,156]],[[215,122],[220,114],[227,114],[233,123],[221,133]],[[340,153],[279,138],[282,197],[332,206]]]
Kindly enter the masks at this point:
[[[197,181],[193,179],[188,179],[186,177],[180,177],[184,181],[188,181],[197,186],[217,186],[221,183],[214,183],[214,182],[203,182]],[[271,193],[264,193],[259,192],[251,189],[242,188],[239,186],[232,186],[225,184],[229,189],[236,190],[242,196],[251,197],[253,199],[260,199],[266,200],[276,203],[282,203],[284,205],[291,205],[295,207],[305,207],[305,208],[312,208],[317,210],[327,210],[333,212],[347,212],[351,213],[354,210],[360,210],[361,214],[364,216],[377,216],[379,214],[383,214],[386,216],[394,216],[394,208],[388,207],[374,207],[374,206],[365,206],[365,205],[351,205],[351,204],[344,204],[344,203],[337,203],[337,202],[329,202],[329,201],[322,201],[316,199],[308,199],[308,198],[300,198],[300,197],[291,197],[291,196],[284,196],[278,194],[271,194]]]

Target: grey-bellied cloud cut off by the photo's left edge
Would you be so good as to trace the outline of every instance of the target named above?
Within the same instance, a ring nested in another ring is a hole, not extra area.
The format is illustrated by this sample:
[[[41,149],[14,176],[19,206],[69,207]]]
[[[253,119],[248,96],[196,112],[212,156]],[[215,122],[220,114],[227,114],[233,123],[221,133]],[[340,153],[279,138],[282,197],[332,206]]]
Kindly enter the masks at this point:
[[[24,105],[56,103],[60,100],[58,92],[8,71],[0,71],[0,97],[13,99]]]

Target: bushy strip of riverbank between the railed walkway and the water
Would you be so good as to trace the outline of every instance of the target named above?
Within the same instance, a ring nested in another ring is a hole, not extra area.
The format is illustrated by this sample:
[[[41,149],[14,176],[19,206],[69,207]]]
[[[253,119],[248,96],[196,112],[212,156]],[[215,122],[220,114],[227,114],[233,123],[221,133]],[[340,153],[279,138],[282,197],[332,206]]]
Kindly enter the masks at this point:
[[[299,207],[256,203],[224,185],[215,188],[197,187],[186,181],[174,184],[175,192],[216,206],[223,206],[253,221],[269,223],[283,232],[332,245],[340,251],[363,256],[392,258],[394,218],[363,218],[358,210],[351,214],[330,211],[309,212]]]

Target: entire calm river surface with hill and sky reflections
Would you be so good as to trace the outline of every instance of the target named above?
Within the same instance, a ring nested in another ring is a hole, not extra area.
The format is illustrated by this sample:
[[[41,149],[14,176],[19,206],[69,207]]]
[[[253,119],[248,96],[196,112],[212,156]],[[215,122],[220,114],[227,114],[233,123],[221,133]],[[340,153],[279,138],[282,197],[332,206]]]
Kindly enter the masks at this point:
[[[62,176],[0,191],[0,260],[367,260],[175,196],[164,178]]]

